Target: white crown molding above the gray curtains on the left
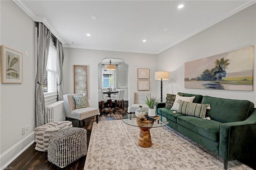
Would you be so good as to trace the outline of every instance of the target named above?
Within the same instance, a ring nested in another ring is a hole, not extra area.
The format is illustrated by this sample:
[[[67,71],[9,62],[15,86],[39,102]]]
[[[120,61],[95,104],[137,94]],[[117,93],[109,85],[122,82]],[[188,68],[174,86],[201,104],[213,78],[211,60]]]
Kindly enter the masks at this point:
[[[22,9],[32,20],[35,22],[42,22],[51,32],[52,34],[62,43],[65,44],[66,42],[60,36],[58,31],[55,30],[55,28],[48,22],[46,17],[44,16],[38,16],[36,15],[27,5],[26,3],[22,2],[22,0],[12,0],[20,9]]]

